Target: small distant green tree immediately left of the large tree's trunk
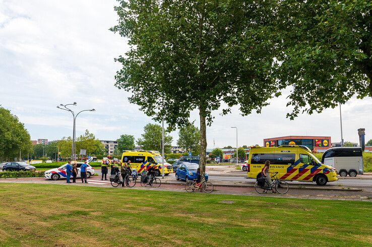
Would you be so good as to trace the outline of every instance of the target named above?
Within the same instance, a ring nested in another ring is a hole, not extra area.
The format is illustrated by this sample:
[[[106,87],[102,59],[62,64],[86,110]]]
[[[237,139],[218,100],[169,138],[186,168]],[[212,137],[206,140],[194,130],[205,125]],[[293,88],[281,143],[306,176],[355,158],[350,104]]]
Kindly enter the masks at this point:
[[[188,124],[180,128],[178,132],[177,145],[191,151],[199,153],[200,151],[200,130],[194,124]]]

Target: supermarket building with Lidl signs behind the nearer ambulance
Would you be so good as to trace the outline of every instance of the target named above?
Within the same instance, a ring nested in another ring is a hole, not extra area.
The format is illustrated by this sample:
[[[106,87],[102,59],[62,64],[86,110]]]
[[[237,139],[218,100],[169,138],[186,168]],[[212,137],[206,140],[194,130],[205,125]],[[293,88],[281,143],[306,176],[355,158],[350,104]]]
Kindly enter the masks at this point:
[[[289,135],[264,139],[264,146],[266,147],[277,147],[280,145],[304,145],[311,150],[324,151],[331,148],[331,137]]]

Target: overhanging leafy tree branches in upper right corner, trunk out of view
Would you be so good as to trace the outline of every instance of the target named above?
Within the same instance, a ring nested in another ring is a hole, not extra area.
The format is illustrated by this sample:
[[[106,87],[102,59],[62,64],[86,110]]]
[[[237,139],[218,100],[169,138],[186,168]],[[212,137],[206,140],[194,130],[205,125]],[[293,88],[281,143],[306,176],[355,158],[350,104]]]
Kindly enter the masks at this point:
[[[279,1],[278,78],[293,90],[288,106],[322,112],[372,96],[372,2]]]

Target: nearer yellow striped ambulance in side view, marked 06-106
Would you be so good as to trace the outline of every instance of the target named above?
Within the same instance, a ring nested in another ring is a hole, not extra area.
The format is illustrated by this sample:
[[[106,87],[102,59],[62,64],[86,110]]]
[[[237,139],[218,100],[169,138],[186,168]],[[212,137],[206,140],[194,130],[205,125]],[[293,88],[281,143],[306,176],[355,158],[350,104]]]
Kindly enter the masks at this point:
[[[278,172],[278,178],[289,181],[316,182],[326,185],[337,181],[337,170],[322,164],[312,151],[303,145],[278,147],[251,147],[247,162],[249,178],[261,177],[265,161],[270,161],[270,172]]]

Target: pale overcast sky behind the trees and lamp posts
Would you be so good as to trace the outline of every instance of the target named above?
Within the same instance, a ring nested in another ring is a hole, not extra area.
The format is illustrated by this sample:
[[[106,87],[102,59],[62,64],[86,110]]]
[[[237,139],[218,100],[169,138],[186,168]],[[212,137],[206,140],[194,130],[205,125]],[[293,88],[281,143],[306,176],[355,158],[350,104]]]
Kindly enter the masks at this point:
[[[0,105],[17,115],[32,139],[72,135],[72,116],[56,108],[76,101],[76,109],[95,108],[77,119],[77,135],[89,129],[99,139],[120,134],[140,137],[151,118],[128,103],[130,93],[114,87],[126,40],[108,29],[115,25],[115,1],[0,0]],[[288,92],[285,92],[288,93]],[[263,145],[263,139],[285,135],[331,136],[340,141],[339,109],[285,118],[285,96],[273,99],[262,114],[242,117],[237,108],[207,128],[208,147]],[[372,138],[372,100],[350,100],[342,106],[344,140],[357,142],[357,129]],[[198,113],[192,121],[199,125]],[[173,144],[178,138],[172,132]]]

